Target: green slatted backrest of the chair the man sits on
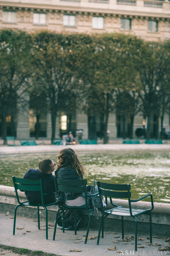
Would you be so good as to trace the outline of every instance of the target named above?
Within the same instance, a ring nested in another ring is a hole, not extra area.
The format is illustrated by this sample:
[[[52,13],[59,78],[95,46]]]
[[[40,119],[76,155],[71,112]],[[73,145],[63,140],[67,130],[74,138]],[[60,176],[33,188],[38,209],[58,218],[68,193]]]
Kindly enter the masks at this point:
[[[12,176],[12,180],[14,183],[15,193],[17,197],[17,201],[19,204],[22,204],[20,202],[17,189],[23,190],[23,191],[41,191],[41,199],[42,199],[42,205],[44,206],[44,198],[43,195],[47,195],[47,193],[43,193],[43,180],[42,179],[23,179]]]

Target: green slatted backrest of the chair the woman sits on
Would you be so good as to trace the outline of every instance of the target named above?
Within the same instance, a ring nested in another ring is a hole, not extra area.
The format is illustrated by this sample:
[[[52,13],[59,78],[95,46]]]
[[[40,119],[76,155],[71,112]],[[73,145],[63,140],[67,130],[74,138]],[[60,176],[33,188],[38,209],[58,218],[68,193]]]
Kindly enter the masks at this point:
[[[85,193],[85,203],[86,210],[88,210],[87,206],[87,179],[82,180],[65,180],[65,179],[57,179],[54,178],[55,189],[57,191],[66,192],[66,193]]]

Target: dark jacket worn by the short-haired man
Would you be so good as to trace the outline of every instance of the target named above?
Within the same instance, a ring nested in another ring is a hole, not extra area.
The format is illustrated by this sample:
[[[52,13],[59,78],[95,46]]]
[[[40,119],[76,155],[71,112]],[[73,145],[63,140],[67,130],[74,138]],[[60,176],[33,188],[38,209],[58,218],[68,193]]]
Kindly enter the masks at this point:
[[[55,191],[54,177],[52,173],[44,174],[38,169],[29,169],[23,176],[24,179],[43,179],[43,192],[50,193],[44,196],[45,205],[51,204],[55,200],[55,194],[53,193]],[[25,191],[25,195],[29,203],[42,204],[41,191]]]

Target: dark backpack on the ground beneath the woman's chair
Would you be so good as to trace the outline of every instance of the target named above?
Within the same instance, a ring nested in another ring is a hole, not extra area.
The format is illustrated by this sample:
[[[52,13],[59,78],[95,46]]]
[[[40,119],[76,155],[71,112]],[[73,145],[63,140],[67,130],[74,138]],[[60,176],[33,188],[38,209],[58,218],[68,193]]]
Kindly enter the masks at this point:
[[[74,210],[65,210],[64,211],[64,229],[71,230],[74,229]],[[77,211],[77,227],[81,220],[81,211]],[[63,213],[60,212],[57,219],[57,228],[63,229]]]

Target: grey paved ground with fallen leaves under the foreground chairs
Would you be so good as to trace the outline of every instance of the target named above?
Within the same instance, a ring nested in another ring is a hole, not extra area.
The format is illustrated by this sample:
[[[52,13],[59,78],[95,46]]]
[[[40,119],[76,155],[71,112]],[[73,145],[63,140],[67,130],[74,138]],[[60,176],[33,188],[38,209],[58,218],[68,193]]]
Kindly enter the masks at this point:
[[[62,230],[57,229],[56,232],[56,240],[53,241],[53,228],[50,227],[48,230],[49,239],[46,240],[46,234],[45,230],[38,230],[37,222],[34,222],[33,220],[26,219],[26,218],[17,218],[16,219],[16,228],[23,227],[21,230],[16,230],[15,236],[12,235],[13,230],[13,219],[11,216],[5,216],[3,214],[0,214],[0,244],[2,245],[8,245],[8,246],[14,246],[19,248],[27,248],[30,250],[39,250],[47,253],[55,253],[59,255],[82,255],[83,256],[96,256],[96,255],[107,255],[107,256],[113,256],[113,255],[133,255],[134,251],[134,240],[132,238],[128,237],[130,241],[122,241],[121,234],[112,234],[112,232],[116,232],[116,230],[107,231],[105,230],[104,238],[100,238],[99,245],[96,245],[97,240],[87,240],[87,244],[84,244],[84,236],[86,234],[85,230],[78,230],[77,235],[74,235],[74,230],[65,231],[65,233],[62,232]],[[45,225],[45,222],[40,222],[41,226]],[[41,229],[44,229],[44,227],[41,227]],[[31,232],[26,232],[26,230]],[[22,234],[25,233],[25,234]],[[96,236],[98,234],[98,230],[90,230],[89,236]],[[166,234],[165,230],[165,237],[168,238],[169,234]],[[120,237],[119,237],[120,236]],[[127,234],[125,236],[134,236],[134,234]],[[153,234],[154,236],[154,234]],[[78,240],[75,240],[76,238],[81,238]],[[138,248],[138,253],[134,252],[134,255],[166,255],[166,253],[169,253],[168,251],[165,253],[165,251],[158,251],[159,247],[165,247],[169,246],[169,242],[166,242],[165,239],[162,238],[153,238],[152,245],[147,245],[146,243],[149,243],[149,240],[147,239],[147,235],[139,235],[138,238],[142,238],[143,240],[138,241],[138,246],[142,246]],[[75,243],[79,242],[79,243]],[[159,244],[158,246],[154,246]],[[108,250],[110,247],[115,247],[115,251]],[[81,252],[69,252],[69,248],[71,250],[79,249]],[[118,251],[122,251],[122,253],[118,253]],[[126,252],[128,251],[128,252]],[[1,252],[0,254],[4,254],[9,256],[8,251]],[[10,254],[13,256],[12,254]],[[16,254],[15,254],[16,255]]]

